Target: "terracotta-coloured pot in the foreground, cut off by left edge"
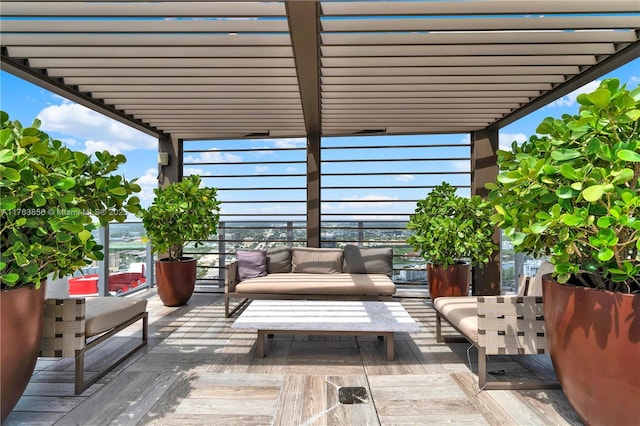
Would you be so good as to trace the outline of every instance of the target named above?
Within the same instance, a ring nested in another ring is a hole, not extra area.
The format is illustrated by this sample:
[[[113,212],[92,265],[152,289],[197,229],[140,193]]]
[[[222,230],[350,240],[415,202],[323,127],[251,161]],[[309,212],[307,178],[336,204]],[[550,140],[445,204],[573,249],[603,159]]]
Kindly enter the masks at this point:
[[[0,381],[2,421],[22,396],[36,366],[46,283],[0,292]]]

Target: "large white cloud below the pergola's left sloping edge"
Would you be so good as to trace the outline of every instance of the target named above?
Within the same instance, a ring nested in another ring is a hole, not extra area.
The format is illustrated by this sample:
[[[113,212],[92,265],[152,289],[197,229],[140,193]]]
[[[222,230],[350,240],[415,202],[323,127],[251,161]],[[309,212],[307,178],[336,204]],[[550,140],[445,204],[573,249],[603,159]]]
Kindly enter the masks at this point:
[[[156,138],[68,101],[44,108],[38,113],[38,118],[42,121],[42,130],[63,135],[60,139],[64,142],[69,137],[69,145],[84,140],[85,152],[158,149]]]

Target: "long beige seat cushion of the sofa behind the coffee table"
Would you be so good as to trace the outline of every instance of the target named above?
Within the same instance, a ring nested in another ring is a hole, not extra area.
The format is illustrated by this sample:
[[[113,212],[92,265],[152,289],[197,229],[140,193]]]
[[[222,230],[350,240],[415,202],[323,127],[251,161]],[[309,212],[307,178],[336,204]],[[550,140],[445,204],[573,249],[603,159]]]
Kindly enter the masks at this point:
[[[308,294],[341,296],[392,296],[396,286],[384,274],[269,274],[251,278],[236,285],[236,293],[244,294]]]

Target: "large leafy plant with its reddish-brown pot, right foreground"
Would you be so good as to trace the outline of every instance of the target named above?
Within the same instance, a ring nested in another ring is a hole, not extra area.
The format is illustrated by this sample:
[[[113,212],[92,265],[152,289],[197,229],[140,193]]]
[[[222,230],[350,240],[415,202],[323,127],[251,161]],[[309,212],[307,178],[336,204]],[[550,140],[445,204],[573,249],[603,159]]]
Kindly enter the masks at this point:
[[[617,79],[498,151],[487,185],[516,251],[548,255],[545,328],[556,373],[589,424],[640,418],[640,88]]]

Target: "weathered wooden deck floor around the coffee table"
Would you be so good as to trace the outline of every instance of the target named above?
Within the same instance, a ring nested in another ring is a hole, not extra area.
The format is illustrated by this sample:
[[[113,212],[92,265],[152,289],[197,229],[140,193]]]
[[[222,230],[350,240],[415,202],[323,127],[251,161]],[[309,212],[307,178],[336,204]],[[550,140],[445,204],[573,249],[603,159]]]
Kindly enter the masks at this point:
[[[149,298],[150,344],[84,394],[73,393],[73,361],[43,358],[5,425],[579,425],[560,390],[477,391],[476,351],[435,341],[425,299],[399,299],[422,328],[396,337],[387,361],[377,338],[275,336],[255,356],[256,333],[230,328],[222,297],[195,294],[167,308]],[[132,328],[132,335],[139,333]],[[452,331],[453,333],[453,331]],[[97,370],[130,337],[96,348]],[[490,371],[554,377],[547,357],[499,357]],[[499,379],[503,379],[500,376]],[[368,399],[341,404],[338,389],[362,386]]]

